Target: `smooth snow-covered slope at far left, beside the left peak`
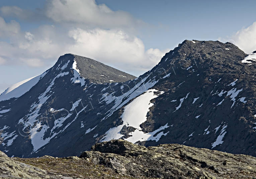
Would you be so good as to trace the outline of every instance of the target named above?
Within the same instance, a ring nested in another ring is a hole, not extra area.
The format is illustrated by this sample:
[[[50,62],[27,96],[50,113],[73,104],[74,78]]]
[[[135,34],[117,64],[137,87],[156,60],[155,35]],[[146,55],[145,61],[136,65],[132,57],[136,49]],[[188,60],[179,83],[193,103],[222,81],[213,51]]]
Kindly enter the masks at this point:
[[[41,75],[28,78],[18,82],[7,88],[1,95],[0,101],[9,100],[11,98],[18,98],[28,92],[38,81],[47,74],[47,71]]]

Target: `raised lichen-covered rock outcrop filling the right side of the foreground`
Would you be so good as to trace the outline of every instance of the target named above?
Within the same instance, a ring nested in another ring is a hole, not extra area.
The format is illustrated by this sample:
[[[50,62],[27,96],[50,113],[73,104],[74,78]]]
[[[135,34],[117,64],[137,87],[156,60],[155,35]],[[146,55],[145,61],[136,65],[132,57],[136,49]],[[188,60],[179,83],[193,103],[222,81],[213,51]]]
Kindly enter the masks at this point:
[[[144,147],[123,140],[95,144],[80,158],[133,177],[170,179],[256,178],[256,158],[208,149],[164,144]]]

